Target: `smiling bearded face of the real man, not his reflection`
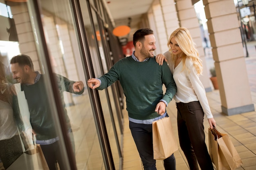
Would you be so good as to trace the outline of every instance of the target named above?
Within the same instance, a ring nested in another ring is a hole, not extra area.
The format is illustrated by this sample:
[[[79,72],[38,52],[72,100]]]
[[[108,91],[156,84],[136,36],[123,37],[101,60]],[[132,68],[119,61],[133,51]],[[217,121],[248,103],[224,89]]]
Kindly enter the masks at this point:
[[[154,57],[155,49],[157,49],[155,46],[155,36],[153,34],[146,35],[140,50],[141,55],[145,56],[145,58],[152,58]]]

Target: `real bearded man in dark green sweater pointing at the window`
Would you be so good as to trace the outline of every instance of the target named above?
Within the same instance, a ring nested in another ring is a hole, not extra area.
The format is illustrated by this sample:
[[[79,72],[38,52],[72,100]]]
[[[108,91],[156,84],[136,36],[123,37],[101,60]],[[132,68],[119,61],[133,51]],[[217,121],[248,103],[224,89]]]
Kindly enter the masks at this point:
[[[156,170],[153,159],[152,122],[159,116],[168,116],[166,106],[176,93],[173,75],[164,62],[159,66],[153,52],[155,37],[151,29],[139,29],[133,34],[135,51],[119,60],[99,79],[89,79],[88,86],[102,90],[117,80],[126,96],[129,126],[141,157],[144,170]],[[162,86],[166,86],[163,94]],[[166,170],[175,170],[175,157],[164,160]]]

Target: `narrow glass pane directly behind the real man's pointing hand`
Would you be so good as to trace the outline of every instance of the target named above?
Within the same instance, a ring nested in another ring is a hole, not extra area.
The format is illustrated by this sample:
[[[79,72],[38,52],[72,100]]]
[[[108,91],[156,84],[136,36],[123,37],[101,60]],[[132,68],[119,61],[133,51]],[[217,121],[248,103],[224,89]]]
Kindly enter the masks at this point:
[[[85,9],[87,6],[80,1],[81,8]],[[82,6],[83,4],[83,6]],[[83,22],[85,24],[85,30],[88,37],[88,44],[90,49],[90,54],[92,56],[92,65],[96,77],[99,77],[108,71],[106,64],[106,37],[103,31],[103,28],[98,23],[97,14],[94,12],[95,8],[92,8],[92,24],[86,20],[88,18],[88,13],[83,10]],[[95,31],[95,32],[94,32]],[[119,126],[116,126],[116,109],[113,102],[113,98],[110,99],[111,87],[103,91],[99,91],[99,97],[101,99],[102,112],[105,119],[106,130],[108,132],[108,139],[110,143],[110,148],[112,152],[112,157],[115,164],[115,169],[120,169],[120,160],[121,160],[121,149],[119,138],[121,138],[121,130]],[[111,94],[112,95],[112,94]],[[112,96],[113,97],[113,96]],[[117,120],[118,124],[118,120]],[[120,139],[121,141],[121,139]]]

